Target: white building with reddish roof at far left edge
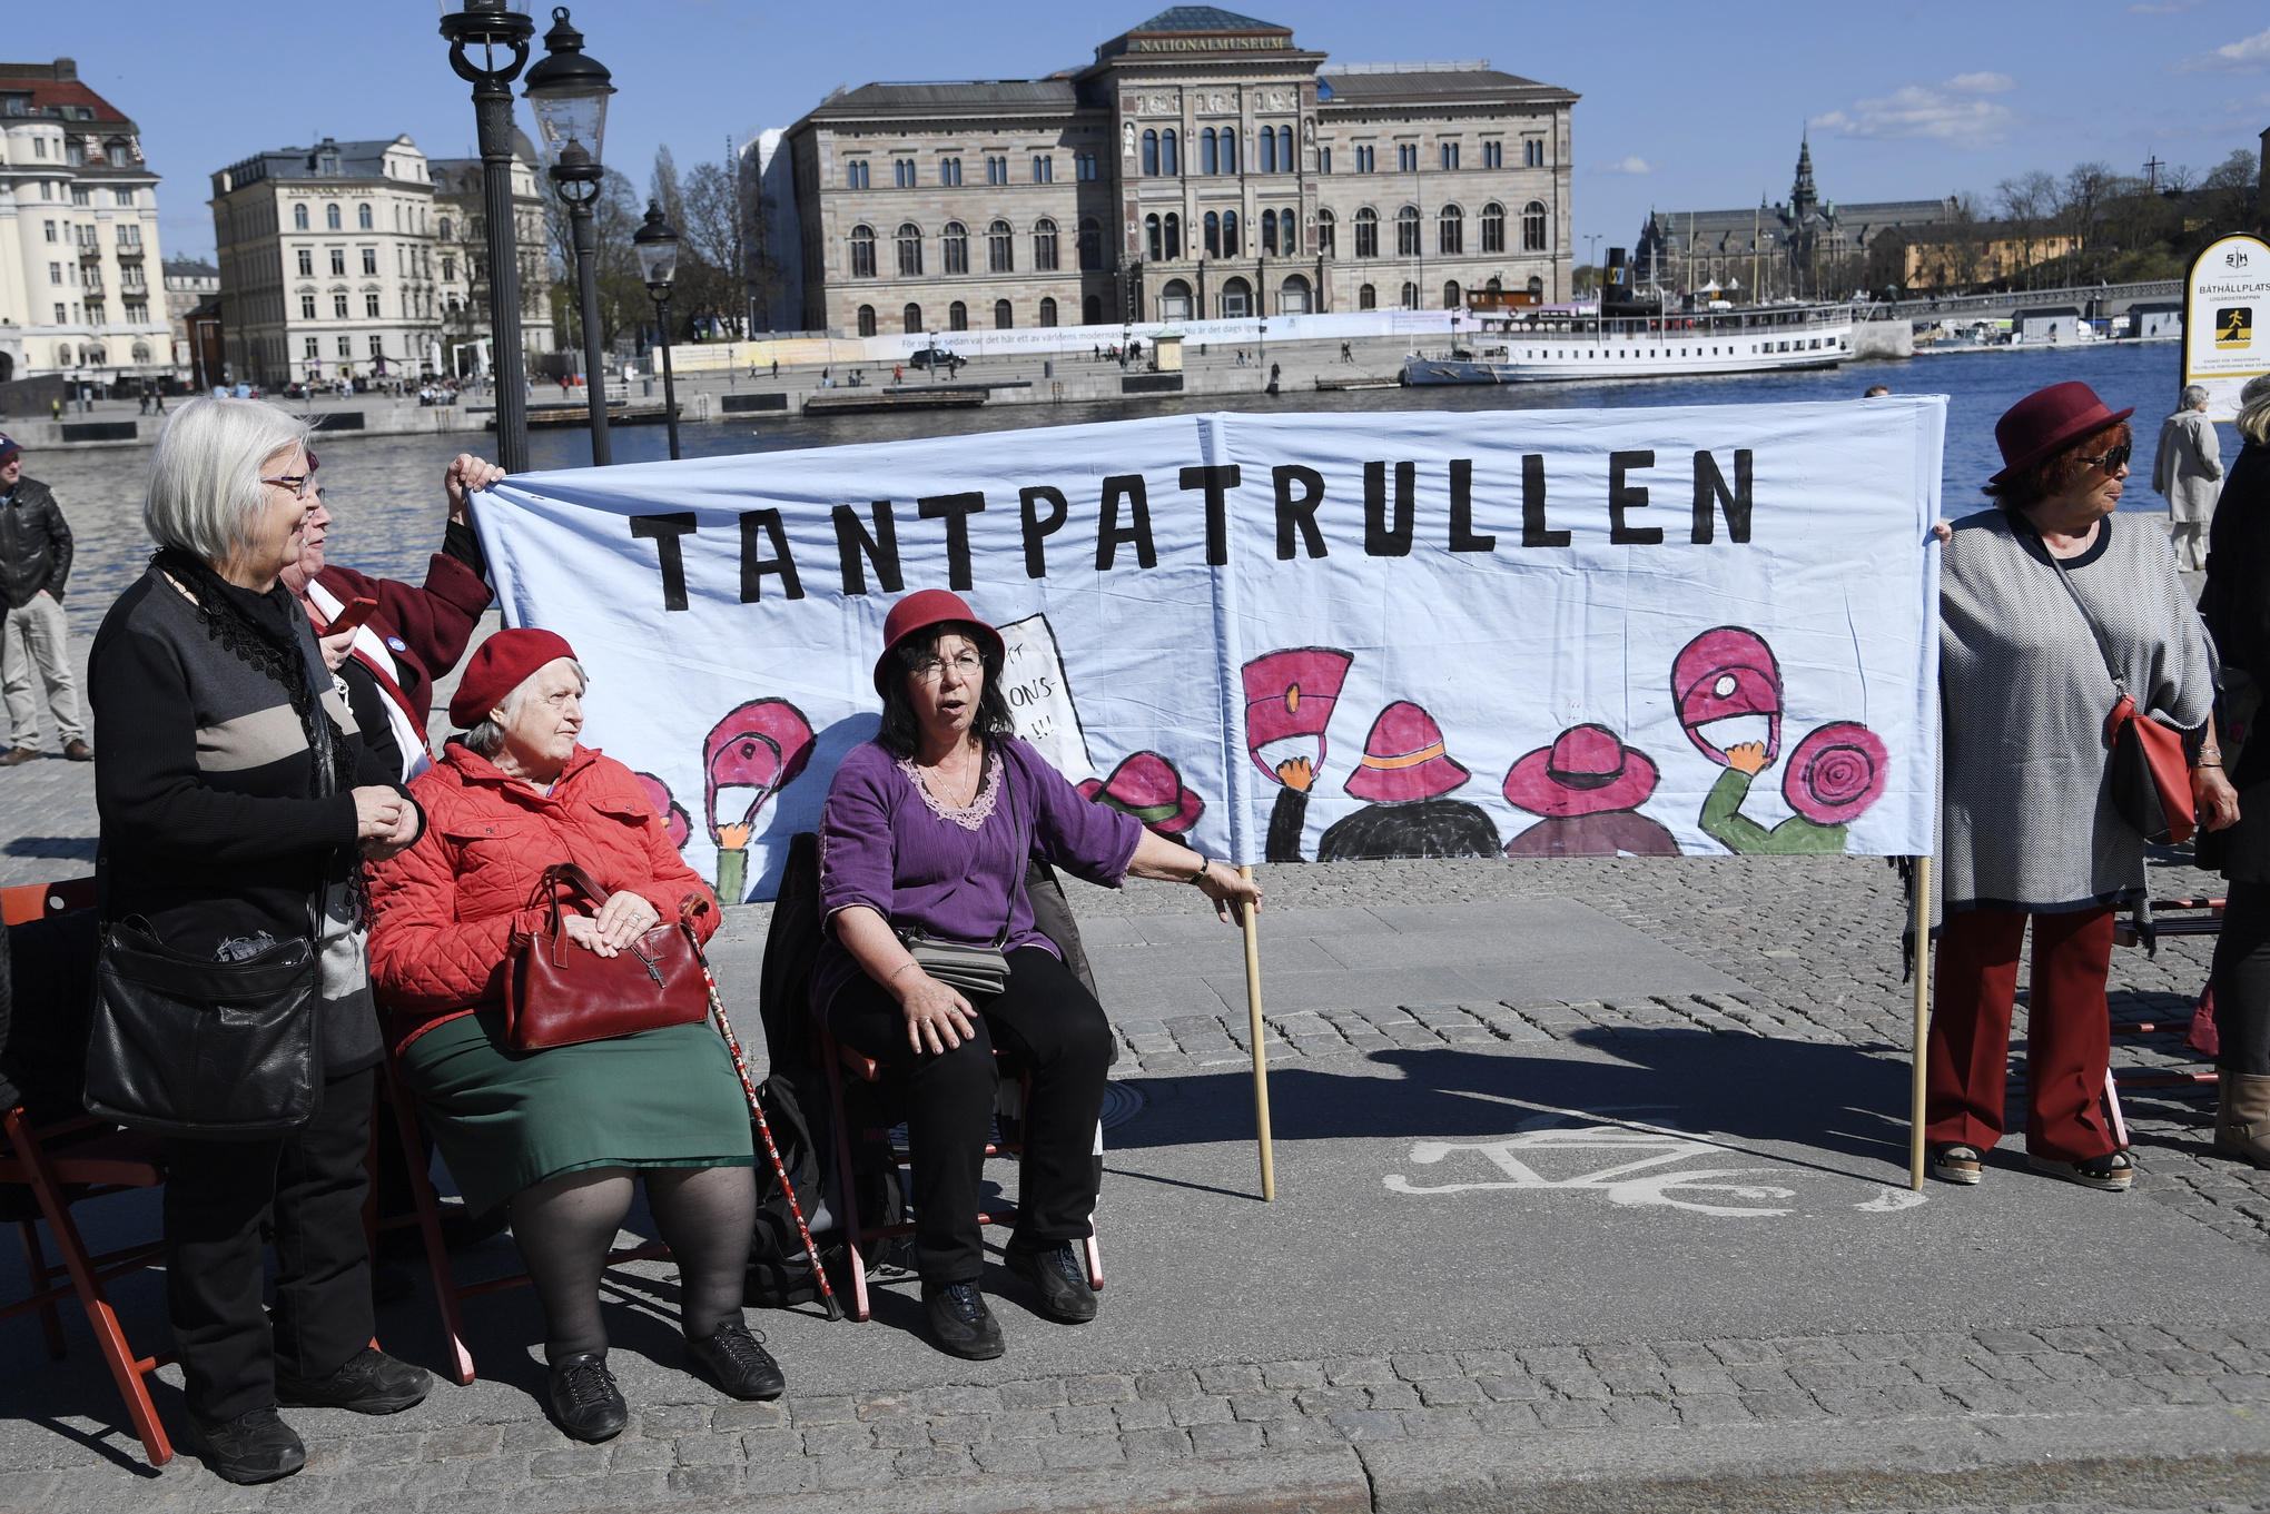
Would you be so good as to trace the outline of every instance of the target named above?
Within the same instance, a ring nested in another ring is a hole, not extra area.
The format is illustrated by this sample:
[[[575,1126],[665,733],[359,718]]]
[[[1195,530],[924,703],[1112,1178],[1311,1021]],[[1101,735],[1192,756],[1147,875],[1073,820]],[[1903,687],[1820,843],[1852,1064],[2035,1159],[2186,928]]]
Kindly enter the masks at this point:
[[[0,64],[0,381],[173,375],[157,175],[68,57]]]

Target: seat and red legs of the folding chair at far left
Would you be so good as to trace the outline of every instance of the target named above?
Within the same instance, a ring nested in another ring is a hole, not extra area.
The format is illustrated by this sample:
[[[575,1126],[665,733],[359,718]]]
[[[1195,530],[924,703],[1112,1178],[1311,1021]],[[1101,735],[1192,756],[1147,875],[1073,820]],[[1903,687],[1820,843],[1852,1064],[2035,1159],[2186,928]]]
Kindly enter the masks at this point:
[[[145,1242],[89,1255],[86,1242],[79,1239],[79,1226],[70,1219],[73,1203],[161,1185],[166,1180],[163,1142],[154,1135],[118,1130],[86,1115],[34,1128],[20,1105],[0,1117],[0,1130],[7,1135],[5,1146],[0,1146],[0,1183],[23,1183],[32,1189],[39,1212],[54,1235],[54,1248],[64,1253],[68,1278],[52,1282],[54,1269],[39,1242],[39,1221],[16,1221],[25,1271],[32,1276],[32,1296],[0,1310],[0,1321],[36,1310],[41,1332],[48,1337],[48,1355],[61,1362],[64,1321],[54,1305],[77,1294],[79,1307],[86,1310],[86,1323],[95,1332],[95,1346],[111,1369],[111,1380],[118,1382],[118,1396],[127,1403],[127,1416],[141,1437],[143,1455],[150,1457],[150,1466],[163,1466],[173,1460],[173,1441],[166,1439],[166,1425],[157,1419],[145,1378],[173,1362],[173,1353],[134,1355],[134,1346],[127,1344],[127,1332],[118,1323],[118,1310],[111,1307],[102,1285],[150,1267],[166,1253],[166,1244]],[[70,1185],[86,1187],[73,1194]]]

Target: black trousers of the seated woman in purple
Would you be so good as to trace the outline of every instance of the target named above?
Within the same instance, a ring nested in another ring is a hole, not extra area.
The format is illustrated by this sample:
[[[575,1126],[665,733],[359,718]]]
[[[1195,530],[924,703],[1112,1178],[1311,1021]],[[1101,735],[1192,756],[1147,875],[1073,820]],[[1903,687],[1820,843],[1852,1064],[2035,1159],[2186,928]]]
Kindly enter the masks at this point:
[[[915,1269],[922,1280],[976,1282],[985,1269],[978,1187],[1001,1074],[994,1046],[1033,1074],[1017,1176],[1017,1239],[1076,1242],[1096,1212],[1096,1117],[1112,1062],[1103,1006],[1042,947],[1008,953],[1008,990],[972,999],[976,1035],[953,1051],[915,1053],[906,1015],[878,983],[854,978],[829,1006],[835,1040],[881,1062],[906,1090],[915,1149]]]

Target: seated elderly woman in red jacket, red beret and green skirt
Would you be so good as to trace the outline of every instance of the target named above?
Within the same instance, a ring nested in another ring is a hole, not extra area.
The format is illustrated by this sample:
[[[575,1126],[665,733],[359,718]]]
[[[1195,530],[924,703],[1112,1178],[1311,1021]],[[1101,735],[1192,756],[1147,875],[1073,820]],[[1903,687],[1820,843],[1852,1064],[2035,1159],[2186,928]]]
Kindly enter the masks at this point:
[[[511,1203],[513,1239],[545,1310],[552,1412],[604,1441],[627,1421],[606,1369],[599,1271],[631,1210],[633,1176],[679,1267],[692,1362],[735,1398],[776,1398],[781,1369],[740,1317],[756,1219],[749,1110],[706,1024],[581,1046],[513,1051],[504,962],[540,928],[529,892],[554,863],[608,890],[565,919],[613,956],[692,894],[711,892],[670,844],[629,767],[577,745],[583,670],[549,631],[488,638],[449,701],[470,726],[411,792],[427,831],[372,874],[370,976],[395,1017],[402,1076],[424,1103],[465,1203]]]

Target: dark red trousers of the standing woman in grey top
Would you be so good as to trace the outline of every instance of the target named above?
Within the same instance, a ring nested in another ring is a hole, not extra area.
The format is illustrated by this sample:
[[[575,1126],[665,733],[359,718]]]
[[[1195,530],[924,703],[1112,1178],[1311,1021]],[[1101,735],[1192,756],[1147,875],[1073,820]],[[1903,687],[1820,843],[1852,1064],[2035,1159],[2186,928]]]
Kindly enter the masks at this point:
[[[2034,976],[2025,1035],[2025,1149],[2088,1162],[2120,1149],[2104,1119],[2113,910],[2034,915]],[[1989,1151],[2002,1139],[2009,1015],[2018,999],[2016,910],[1948,915],[1939,937],[1939,1003],[1927,1049],[1925,1139]]]

